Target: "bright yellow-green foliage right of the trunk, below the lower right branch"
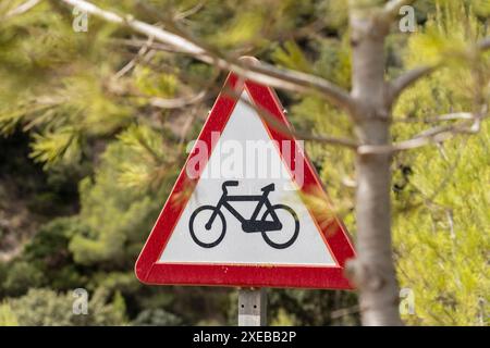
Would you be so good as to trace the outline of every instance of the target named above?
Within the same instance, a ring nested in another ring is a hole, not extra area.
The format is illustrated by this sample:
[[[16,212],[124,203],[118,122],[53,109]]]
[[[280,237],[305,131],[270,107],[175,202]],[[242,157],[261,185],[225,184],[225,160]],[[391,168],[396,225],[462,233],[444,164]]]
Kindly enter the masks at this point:
[[[431,149],[409,161],[415,194],[405,203],[424,206],[394,221],[401,284],[415,293],[409,323],[489,324],[489,134],[486,123],[480,136],[445,146],[445,157]]]

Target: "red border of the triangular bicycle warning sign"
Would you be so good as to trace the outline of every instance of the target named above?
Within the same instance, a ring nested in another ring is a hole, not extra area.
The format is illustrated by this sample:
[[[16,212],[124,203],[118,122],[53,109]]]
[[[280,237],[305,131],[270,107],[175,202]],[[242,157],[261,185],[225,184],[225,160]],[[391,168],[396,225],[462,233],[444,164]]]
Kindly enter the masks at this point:
[[[215,105],[199,134],[198,139],[205,141],[211,156],[213,145],[211,133],[220,134],[226,126],[226,123],[233,113],[237,103],[236,96],[240,96],[246,89],[252,101],[257,108],[266,110],[274,122],[291,127],[283,113],[283,108],[274,90],[270,87],[257,84],[253,80],[242,79],[236,74],[230,73],[224,88],[218,96]],[[233,96],[230,96],[232,90]],[[281,144],[282,140],[290,140],[296,144],[296,140],[290,134],[280,133],[265,120],[264,124],[273,140]],[[191,179],[186,175],[185,167],[188,160],[195,154],[193,149],[182,169],[172,191],[163,206],[160,215],[139,254],[135,264],[137,278],[145,284],[159,285],[209,285],[209,286],[238,286],[238,287],[293,287],[293,288],[330,288],[330,289],[352,289],[353,286],[344,275],[345,262],[355,258],[353,244],[350,240],[345,227],[339,219],[335,219],[333,225],[319,227],[322,238],[336,265],[317,266],[317,265],[257,265],[257,264],[205,264],[205,263],[159,263],[161,253],[169,241],[172,232],[185,209],[188,198],[173,199],[184,196],[184,190],[192,187],[198,179]],[[279,150],[280,151],[280,150]],[[304,194],[320,192],[328,200],[327,194],[321,182],[311,165],[307,156],[303,151],[292,151],[302,156],[304,161],[304,183],[302,191]],[[282,153],[281,153],[282,156]],[[291,161],[284,161],[290,167]],[[291,167],[290,167],[291,169]],[[189,186],[191,185],[191,186]],[[301,186],[301,185],[299,185]],[[315,221],[319,221],[311,212]],[[328,231],[327,231],[328,229]]]

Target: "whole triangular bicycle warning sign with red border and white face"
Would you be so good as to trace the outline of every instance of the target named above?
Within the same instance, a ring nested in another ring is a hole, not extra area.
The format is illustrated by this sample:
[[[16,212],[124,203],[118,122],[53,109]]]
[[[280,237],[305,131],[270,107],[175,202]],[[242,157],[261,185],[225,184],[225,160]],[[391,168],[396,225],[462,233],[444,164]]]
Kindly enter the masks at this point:
[[[136,262],[139,281],[352,288],[353,246],[289,129],[271,88],[230,73]]]

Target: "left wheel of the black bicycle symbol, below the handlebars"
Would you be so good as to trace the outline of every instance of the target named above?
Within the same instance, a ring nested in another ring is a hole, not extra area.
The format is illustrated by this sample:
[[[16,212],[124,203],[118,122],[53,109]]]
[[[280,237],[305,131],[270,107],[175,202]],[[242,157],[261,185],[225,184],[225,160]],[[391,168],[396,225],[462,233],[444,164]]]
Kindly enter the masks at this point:
[[[208,224],[216,210],[216,207],[203,206],[197,208],[191,215],[188,222],[191,237],[199,247],[212,248],[223,240],[226,232],[226,222],[223,213],[218,210],[212,224]]]

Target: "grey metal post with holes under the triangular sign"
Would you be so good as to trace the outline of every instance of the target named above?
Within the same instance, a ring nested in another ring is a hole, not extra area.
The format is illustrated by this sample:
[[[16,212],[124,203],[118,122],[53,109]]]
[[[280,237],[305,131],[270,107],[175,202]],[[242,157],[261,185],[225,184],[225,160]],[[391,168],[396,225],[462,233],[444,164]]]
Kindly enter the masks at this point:
[[[267,325],[267,291],[265,288],[238,289],[238,326]]]

